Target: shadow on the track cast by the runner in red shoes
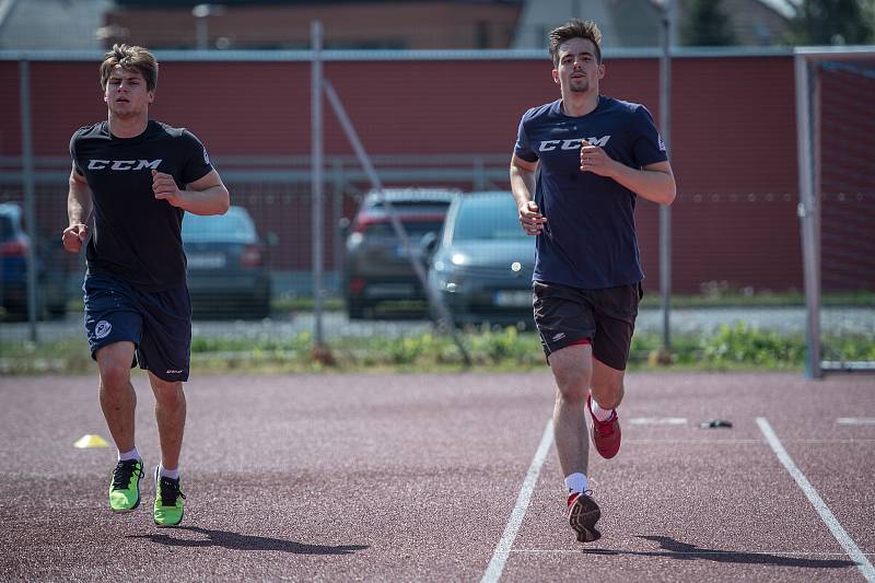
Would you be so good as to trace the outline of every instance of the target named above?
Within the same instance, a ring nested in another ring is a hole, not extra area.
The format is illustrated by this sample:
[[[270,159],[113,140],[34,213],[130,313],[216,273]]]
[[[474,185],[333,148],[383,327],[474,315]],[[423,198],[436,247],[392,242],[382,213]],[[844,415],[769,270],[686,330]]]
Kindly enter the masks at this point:
[[[660,544],[662,550],[614,550],[614,549],[583,549],[584,555],[633,555],[637,557],[667,557],[684,561],[705,559],[715,562],[730,562],[743,564],[771,564],[775,567],[804,567],[810,569],[841,569],[856,567],[850,560],[840,559],[805,559],[802,557],[782,557],[768,552],[744,552],[737,550],[719,550],[697,547],[688,543],[675,540],[668,536],[639,536],[645,540]]]

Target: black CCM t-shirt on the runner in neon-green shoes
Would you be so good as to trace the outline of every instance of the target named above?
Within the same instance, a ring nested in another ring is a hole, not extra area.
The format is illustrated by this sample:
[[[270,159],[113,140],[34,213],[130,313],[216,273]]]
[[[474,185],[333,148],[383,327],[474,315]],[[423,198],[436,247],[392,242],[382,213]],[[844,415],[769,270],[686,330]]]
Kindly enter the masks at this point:
[[[148,292],[184,285],[184,211],[155,199],[152,171],[172,175],[180,189],[202,178],[213,168],[200,140],[154,120],[139,136],[118,138],[101,121],[73,133],[70,155],[94,207],[89,272],[119,277]]]

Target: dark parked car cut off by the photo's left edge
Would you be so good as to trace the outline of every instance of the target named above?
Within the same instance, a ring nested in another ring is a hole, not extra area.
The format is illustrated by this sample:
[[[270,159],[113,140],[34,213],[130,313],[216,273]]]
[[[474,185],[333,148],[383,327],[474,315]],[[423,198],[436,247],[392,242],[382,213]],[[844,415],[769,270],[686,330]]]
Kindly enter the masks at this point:
[[[27,315],[27,252],[33,238],[25,232],[22,209],[15,202],[0,205],[0,306],[12,317]],[[58,247],[58,254],[63,252]],[[55,254],[55,255],[58,255]],[[61,316],[67,312],[66,273],[55,255],[37,249],[36,315]]]

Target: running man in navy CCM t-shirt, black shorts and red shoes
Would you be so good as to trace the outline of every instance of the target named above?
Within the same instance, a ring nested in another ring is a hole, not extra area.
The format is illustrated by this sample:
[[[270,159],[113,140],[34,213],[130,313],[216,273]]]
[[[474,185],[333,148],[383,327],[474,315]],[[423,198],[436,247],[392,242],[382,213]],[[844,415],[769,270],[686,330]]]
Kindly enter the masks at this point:
[[[616,407],[644,278],[634,207],[675,199],[675,178],[650,112],[599,95],[602,33],[572,20],[549,35],[561,98],[523,115],[511,161],[520,222],[537,236],[535,324],[557,383],[553,431],[578,540],[600,534],[586,478],[588,440],[606,458],[620,447]]]

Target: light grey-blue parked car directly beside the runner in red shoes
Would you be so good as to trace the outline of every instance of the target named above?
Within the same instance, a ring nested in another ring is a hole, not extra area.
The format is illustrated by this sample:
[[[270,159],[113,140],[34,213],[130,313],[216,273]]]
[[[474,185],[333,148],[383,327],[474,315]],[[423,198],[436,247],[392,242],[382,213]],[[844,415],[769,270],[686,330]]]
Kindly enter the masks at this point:
[[[456,323],[532,324],[535,237],[520,226],[510,191],[453,202],[429,269],[429,285]]]

